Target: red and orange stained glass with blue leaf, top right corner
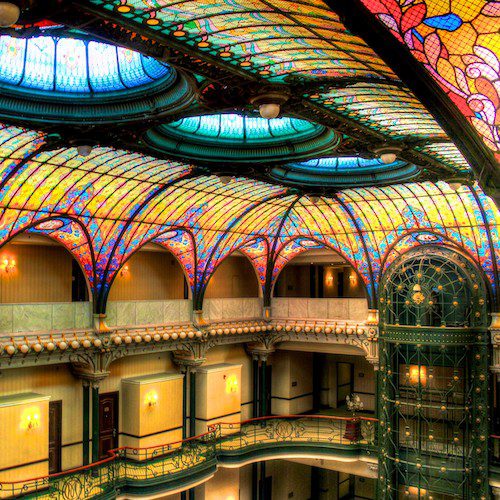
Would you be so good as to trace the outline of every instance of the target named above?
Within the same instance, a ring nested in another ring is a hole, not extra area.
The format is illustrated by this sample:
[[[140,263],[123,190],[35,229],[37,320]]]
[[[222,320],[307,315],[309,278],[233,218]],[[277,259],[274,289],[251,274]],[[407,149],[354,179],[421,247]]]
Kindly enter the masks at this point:
[[[500,161],[499,3],[362,1],[411,50]]]

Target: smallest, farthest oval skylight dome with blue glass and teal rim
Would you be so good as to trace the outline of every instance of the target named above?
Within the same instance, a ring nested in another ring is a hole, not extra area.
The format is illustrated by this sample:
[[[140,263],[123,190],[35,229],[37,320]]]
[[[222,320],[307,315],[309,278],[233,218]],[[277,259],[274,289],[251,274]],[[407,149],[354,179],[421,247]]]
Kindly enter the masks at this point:
[[[378,158],[337,156],[274,167],[271,176],[288,184],[346,188],[405,182],[419,172],[419,167],[404,160],[386,164]]]

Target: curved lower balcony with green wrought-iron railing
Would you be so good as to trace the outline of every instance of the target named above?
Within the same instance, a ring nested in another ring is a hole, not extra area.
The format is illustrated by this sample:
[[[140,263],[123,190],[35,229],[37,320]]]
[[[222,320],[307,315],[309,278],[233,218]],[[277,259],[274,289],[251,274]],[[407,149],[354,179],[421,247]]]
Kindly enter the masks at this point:
[[[373,451],[374,418],[316,415],[262,417],[220,423],[205,434],[148,448],[123,447],[85,467],[0,483],[0,498],[100,499],[121,493],[168,491],[213,474],[217,463],[259,460],[273,453],[350,456]]]

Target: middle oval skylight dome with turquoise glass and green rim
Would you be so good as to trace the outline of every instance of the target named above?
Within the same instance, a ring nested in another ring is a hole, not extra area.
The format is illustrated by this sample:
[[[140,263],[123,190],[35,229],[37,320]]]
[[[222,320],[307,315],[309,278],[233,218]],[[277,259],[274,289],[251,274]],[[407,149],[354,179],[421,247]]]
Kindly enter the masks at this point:
[[[254,162],[310,158],[334,150],[332,129],[293,117],[265,119],[237,113],[189,116],[149,130],[153,149],[200,161]]]

